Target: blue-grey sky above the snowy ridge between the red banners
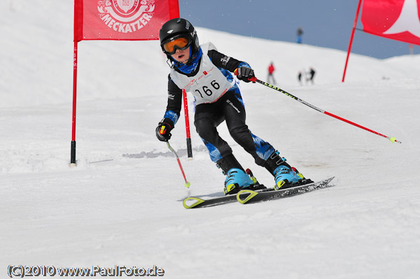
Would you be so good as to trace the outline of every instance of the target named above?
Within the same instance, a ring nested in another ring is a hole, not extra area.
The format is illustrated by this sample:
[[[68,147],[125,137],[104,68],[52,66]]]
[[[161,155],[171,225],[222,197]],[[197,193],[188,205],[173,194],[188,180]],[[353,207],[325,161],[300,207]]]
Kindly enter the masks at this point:
[[[345,51],[357,6],[358,0],[179,0],[181,17],[197,27],[288,42],[296,41],[302,27],[303,43]],[[409,54],[409,45],[356,30],[351,52],[387,58]]]

